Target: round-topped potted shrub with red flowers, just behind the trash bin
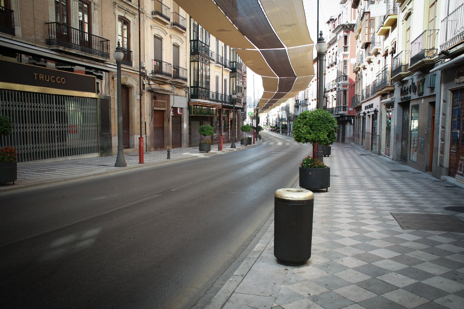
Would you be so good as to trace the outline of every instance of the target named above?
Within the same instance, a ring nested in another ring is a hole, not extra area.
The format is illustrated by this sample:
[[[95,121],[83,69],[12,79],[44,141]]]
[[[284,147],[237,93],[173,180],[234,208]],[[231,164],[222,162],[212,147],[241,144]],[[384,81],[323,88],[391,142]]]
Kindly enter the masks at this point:
[[[299,143],[311,143],[313,155],[303,159],[300,164],[300,187],[305,189],[328,189],[330,187],[330,167],[316,158],[318,143],[331,145],[336,140],[337,120],[329,111],[316,109],[303,111],[293,123],[293,139]]]

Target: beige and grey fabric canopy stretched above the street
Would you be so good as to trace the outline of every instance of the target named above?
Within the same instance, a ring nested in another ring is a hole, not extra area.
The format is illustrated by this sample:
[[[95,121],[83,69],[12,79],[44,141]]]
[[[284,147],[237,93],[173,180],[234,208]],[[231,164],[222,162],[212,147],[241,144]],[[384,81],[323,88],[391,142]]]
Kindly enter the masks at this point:
[[[303,0],[176,0],[263,78],[259,113],[306,89],[314,76],[313,41]]]

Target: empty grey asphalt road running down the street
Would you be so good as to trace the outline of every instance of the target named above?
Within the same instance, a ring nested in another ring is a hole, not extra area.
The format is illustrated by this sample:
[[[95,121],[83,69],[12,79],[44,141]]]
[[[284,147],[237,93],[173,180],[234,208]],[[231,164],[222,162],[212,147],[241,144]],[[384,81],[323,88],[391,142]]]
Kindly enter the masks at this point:
[[[0,306],[207,302],[311,149],[262,135],[274,145],[1,194]]]

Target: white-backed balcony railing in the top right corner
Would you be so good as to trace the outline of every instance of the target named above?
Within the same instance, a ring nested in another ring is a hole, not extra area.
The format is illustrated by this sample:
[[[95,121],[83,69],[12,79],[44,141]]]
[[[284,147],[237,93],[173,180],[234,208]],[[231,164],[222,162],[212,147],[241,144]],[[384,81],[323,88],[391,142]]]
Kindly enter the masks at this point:
[[[464,40],[464,4],[441,21],[440,50],[447,50]]]

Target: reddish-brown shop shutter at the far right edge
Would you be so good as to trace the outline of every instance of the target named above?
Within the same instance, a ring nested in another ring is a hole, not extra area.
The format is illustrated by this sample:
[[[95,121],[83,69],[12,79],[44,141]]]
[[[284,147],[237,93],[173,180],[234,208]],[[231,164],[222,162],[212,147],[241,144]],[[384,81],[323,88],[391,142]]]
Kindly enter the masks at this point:
[[[449,176],[464,181],[464,89],[453,92]]]

